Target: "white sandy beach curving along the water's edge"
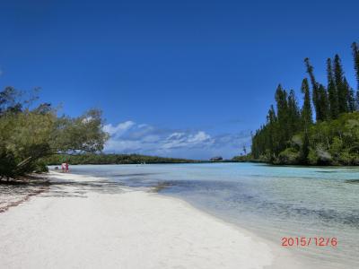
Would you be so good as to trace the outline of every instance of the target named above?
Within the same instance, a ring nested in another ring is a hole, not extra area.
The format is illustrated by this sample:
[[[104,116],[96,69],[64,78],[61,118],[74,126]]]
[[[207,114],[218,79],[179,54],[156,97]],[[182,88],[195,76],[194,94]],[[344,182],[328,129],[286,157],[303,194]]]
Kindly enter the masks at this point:
[[[295,267],[279,247],[178,199],[79,188],[98,178],[50,178],[77,185],[0,214],[0,268]]]

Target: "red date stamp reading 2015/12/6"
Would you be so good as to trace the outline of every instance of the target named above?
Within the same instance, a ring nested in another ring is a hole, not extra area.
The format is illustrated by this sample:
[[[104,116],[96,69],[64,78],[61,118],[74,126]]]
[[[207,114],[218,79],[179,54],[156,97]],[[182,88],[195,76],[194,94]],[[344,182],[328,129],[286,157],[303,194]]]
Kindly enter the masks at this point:
[[[282,247],[337,247],[337,238],[323,237],[284,237]]]

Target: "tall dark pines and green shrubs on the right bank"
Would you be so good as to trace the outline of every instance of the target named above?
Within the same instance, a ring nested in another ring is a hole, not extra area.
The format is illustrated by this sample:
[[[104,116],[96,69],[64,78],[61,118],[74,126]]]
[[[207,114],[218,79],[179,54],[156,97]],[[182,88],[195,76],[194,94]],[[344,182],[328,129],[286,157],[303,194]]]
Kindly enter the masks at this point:
[[[359,164],[359,49],[352,44],[358,91],[347,82],[340,57],[327,59],[327,82],[316,80],[309,58],[302,108],[293,90],[276,89],[276,108],[252,136],[250,158],[278,164]],[[313,119],[315,118],[315,120]]]

